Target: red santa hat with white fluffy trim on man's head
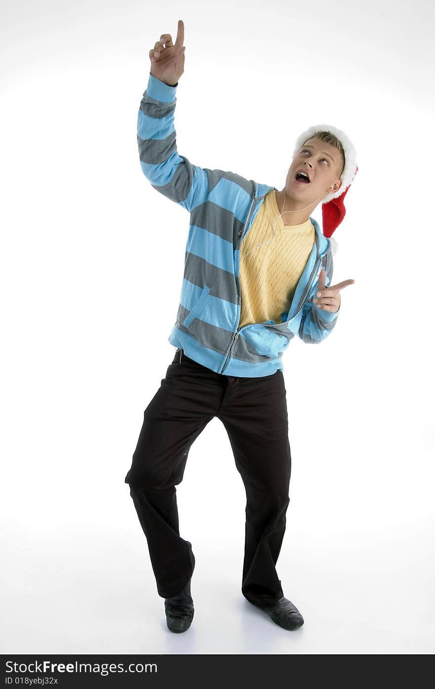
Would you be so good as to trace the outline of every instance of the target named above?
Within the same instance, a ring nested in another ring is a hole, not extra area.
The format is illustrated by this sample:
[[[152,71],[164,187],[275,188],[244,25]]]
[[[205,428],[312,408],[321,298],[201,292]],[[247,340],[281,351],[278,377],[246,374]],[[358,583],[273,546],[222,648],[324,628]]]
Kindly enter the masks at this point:
[[[325,198],[321,200],[321,210],[323,218],[323,234],[324,236],[330,238],[332,232],[337,229],[344,216],[346,215],[346,208],[344,207],[344,197],[348,193],[348,189],[352,182],[354,181],[355,175],[358,172],[357,166],[357,151],[355,150],[352,141],[346,136],[344,132],[333,127],[332,125],[313,125],[305,132],[302,132],[298,136],[295,151],[293,152],[293,157],[297,155],[301,146],[308,141],[308,139],[313,138],[316,132],[330,132],[334,134],[339,139],[344,150],[344,169],[341,173],[340,179],[343,181],[341,187],[337,192],[331,192]],[[336,247],[337,248],[337,247]]]

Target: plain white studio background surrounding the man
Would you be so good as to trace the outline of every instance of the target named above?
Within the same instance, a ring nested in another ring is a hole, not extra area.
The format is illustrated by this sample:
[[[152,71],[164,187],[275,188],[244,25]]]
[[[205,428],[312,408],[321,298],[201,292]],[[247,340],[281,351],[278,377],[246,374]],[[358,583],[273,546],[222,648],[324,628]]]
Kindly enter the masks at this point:
[[[432,4],[14,1],[2,14],[1,652],[434,652]],[[284,355],[277,573],[296,632],[240,591],[246,497],[219,420],[177,489],[196,557],[187,633],[167,630],[124,483],[175,352],[189,214],[143,176],[136,120],[149,50],[178,19],[178,152],[194,165],[282,189],[309,125],[357,147],[333,278],[354,285],[328,340]]]

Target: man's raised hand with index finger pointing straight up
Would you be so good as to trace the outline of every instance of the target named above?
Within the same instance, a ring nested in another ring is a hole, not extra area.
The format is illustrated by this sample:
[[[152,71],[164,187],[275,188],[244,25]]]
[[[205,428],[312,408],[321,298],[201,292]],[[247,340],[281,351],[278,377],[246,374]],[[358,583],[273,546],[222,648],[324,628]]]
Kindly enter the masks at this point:
[[[184,23],[179,19],[175,45],[172,43],[171,34],[162,34],[160,41],[149,51],[151,74],[168,86],[175,86],[184,72],[183,41]]]

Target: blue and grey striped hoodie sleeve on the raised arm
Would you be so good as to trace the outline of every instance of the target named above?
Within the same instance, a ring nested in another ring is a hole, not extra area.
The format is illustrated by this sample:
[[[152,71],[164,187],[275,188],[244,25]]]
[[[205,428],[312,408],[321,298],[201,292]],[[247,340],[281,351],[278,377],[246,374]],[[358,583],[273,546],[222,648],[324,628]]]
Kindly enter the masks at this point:
[[[202,167],[178,154],[173,123],[177,87],[149,73],[138,112],[139,158],[153,188],[191,212],[206,200],[209,178]]]

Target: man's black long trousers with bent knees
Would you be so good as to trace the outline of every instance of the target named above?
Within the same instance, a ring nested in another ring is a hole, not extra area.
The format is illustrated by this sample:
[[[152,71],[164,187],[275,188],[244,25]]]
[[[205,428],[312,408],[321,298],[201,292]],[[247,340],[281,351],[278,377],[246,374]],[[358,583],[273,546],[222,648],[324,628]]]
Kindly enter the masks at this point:
[[[178,349],[145,409],[125,483],[147,537],[158,594],[177,595],[193,573],[195,558],[191,542],[180,537],[176,485],[191,445],[214,417],[229,435],[246,490],[242,594],[264,607],[284,595],[275,570],[290,502],[282,371],[259,378],[225,376]]]

